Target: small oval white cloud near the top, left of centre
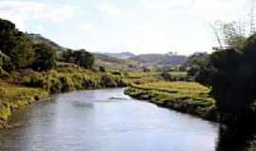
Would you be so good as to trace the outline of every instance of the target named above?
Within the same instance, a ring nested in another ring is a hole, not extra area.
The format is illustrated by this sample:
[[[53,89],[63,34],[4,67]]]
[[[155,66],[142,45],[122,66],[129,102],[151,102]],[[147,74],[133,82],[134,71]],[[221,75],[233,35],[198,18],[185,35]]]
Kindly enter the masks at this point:
[[[101,10],[101,12],[108,15],[119,15],[121,10],[109,3],[101,3],[97,8]]]

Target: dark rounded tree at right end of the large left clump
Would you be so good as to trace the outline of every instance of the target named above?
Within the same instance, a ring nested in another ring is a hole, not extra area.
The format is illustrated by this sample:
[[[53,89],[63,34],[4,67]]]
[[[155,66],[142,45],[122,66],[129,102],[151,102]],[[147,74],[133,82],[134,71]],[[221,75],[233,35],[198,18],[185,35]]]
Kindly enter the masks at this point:
[[[35,60],[32,68],[36,71],[46,71],[56,66],[56,51],[44,44],[38,43],[33,46],[35,50]]]

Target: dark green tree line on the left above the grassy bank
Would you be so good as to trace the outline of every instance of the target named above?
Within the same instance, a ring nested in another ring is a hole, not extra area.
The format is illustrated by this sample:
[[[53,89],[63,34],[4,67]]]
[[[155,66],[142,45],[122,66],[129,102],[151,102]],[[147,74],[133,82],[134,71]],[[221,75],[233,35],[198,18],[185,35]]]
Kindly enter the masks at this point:
[[[0,76],[11,71],[32,69],[47,71],[54,69],[58,61],[75,63],[85,69],[91,69],[94,56],[81,50],[57,50],[44,42],[32,42],[27,34],[19,31],[8,20],[0,19]]]

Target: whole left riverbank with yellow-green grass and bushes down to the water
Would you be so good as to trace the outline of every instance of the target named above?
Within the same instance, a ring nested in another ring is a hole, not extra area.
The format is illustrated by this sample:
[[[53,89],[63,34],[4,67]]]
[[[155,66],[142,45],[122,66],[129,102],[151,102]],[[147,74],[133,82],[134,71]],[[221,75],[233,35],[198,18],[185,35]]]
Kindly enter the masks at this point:
[[[13,110],[44,100],[50,94],[125,85],[120,76],[75,68],[59,68],[45,73],[12,73],[0,82],[0,128],[8,126]]]

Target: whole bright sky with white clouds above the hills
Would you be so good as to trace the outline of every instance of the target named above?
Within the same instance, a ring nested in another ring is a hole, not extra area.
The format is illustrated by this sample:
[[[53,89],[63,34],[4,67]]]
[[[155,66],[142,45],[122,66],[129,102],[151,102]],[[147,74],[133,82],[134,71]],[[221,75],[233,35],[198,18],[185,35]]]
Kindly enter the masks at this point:
[[[252,0],[0,0],[0,18],[72,49],[211,52],[210,25],[246,20]]]

